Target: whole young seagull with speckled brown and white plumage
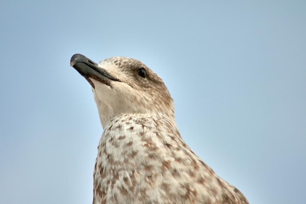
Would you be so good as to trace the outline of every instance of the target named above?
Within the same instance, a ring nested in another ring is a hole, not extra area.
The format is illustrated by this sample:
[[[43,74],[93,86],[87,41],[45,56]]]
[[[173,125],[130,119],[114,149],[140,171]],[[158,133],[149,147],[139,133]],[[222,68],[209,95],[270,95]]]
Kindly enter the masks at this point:
[[[92,88],[103,134],[93,204],[248,204],[183,141],[164,82],[138,60],[71,57]]]

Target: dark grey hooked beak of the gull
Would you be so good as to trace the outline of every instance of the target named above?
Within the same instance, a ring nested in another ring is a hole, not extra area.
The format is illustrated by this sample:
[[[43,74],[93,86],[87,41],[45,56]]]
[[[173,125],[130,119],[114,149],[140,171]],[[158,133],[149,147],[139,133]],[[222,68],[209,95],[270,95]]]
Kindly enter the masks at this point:
[[[75,68],[94,88],[93,82],[91,79],[97,80],[101,83],[104,83],[110,86],[111,81],[117,81],[118,79],[111,76],[106,70],[98,66],[97,63],[91,61],[87,57],[81,54],[74,54],[70,60],[70,66]]]

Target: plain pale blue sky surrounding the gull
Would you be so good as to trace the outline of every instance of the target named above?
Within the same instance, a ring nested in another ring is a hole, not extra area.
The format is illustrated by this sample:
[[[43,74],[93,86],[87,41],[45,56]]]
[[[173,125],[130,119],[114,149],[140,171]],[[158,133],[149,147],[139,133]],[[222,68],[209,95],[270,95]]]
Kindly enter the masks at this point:
[[[1,204],[92,202],[103,129],[75,53],[143,61],[221,178],[305,203],[306,1],[7,0],[0,28]]]

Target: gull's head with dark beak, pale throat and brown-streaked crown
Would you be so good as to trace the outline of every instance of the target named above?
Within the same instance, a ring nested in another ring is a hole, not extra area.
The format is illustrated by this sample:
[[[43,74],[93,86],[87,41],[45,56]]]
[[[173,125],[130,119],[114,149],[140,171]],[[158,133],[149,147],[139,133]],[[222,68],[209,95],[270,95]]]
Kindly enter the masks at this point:
[[[111,57],[97,64],[75,54],[70,65],[91,85],[103,128],[120,114],[146,114],[175,121],[174,103],[166,85],[141,61]]]

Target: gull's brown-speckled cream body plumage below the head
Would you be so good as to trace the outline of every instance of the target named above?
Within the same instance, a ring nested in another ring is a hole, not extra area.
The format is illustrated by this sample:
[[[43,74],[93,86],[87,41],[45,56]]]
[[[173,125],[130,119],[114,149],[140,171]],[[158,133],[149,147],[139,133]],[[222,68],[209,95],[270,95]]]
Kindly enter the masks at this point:
[[[166,118],[120,115],[105,127],[95,204],[247,204],[184,143]]]

